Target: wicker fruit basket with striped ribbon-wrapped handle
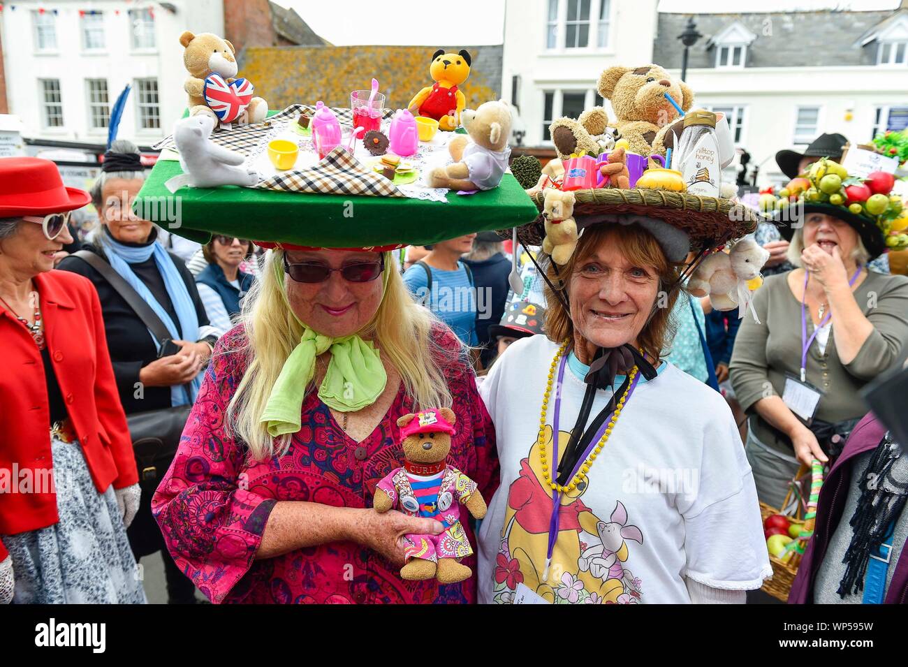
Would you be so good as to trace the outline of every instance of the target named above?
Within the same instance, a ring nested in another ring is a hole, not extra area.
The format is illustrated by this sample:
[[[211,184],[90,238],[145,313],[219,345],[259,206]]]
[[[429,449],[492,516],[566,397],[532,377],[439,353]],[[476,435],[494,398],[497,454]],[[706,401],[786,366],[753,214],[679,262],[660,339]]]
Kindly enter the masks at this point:
[[[792,499],[793,495],[801,495],[803,498],[803,494],[799,491],[799,486],[804,476],[809,476],[810,479],[810,495],[806,505],[804,505],[804,502],[802,501],[794,502]],[[769,563],[773,566],[773,576],[766,580],[761,590],[782,602],[788,601],[788,593],[791,593],[792,584],[795,583],[795,574],[797,574],[798,566],[801,564],[801,556],[804,554],[804,548],[806,548],[806,545],[814,535],[816,500],[820,495],[820,487],[822,485],[823,466],[819,461],[814,460],[814,466],[812,467],[802,465],[798,470],[797,475],[795,475],[795,479],[793,479],[788,486],[788,493],[785,495],[785,501],[782,503],[782,506],[785,509],[778,510],[765,503],[760,503],[760,518],[763,521],[766,520],[766,517],[771,515],[785,515],[785,512],[789,511],[787,508],[794,505],[794,514],[788,515],[788,518],[793,524],[801,525],[801,535],[797,537],[795,543],[793,543],[796,548],[793,549],[791,554],[787,554],[785,560],[776,558],[773,554],[769,554]],[[804,519],[798,518],[802,512],[804,512]]]

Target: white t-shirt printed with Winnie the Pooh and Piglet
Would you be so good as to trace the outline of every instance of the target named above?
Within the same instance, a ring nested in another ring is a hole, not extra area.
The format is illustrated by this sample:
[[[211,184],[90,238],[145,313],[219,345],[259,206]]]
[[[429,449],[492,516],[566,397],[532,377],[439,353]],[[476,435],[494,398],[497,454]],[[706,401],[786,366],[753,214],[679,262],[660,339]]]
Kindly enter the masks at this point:
[[[479,386],[501,464],[501,486],[479,530],[479,601],[690,603],[691,582],[759,588],[772,568],[735,419],[722,396],[668,362],[653,380],[638,381],[588,486],[561,500],[544,577],[552,495],[537,440],[557,350],[545,336],[520,339]],[[559,456],[583,400],[583,368],[573,357],[565,368]],[[597,392],[590,421],[609,396]],[[553,390],[548,456],[554,411]]]

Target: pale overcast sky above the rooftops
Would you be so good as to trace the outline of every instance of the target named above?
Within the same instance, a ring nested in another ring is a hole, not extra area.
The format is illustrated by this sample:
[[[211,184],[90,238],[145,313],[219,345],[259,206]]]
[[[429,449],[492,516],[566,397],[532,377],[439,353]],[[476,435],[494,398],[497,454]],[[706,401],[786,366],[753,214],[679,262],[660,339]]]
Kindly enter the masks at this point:
[[[633,2],[633,0],[613,0]],[[382,3],[380,0],[276,0],[293,7],[312,30],[331,44],[501,44],[504,0],[458,0],[457,3]],[[546,2],[546,0],[523,0]],[[406,16],[407,6],[413,14]],[[894,9],[898,0],[660,0],[663,12],[775,12],[815,9]],[[442,7],[456,6],[445,12]],[[428,8],[426,18],[417,16]],[[431,10],[435,11],[432,12]],[[348,18],[355,17],[355,18]],[[414,26],[419,33],[414,34]]]

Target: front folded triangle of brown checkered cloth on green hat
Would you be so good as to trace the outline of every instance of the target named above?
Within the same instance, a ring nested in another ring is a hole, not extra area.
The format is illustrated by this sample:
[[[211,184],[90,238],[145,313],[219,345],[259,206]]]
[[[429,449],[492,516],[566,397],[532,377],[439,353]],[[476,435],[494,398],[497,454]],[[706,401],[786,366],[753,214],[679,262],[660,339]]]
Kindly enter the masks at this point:
[[[321,194],[361,194],[371,197],[406,195],[379,173],[370,172],[343,146],[324,159],[301,170],[281,172],[261,181],[256,188]]]

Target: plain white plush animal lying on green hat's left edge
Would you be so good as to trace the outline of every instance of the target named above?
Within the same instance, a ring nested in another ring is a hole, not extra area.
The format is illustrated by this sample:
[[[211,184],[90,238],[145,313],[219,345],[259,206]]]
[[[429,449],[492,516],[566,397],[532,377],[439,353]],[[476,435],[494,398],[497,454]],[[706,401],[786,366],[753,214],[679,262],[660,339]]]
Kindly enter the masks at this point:
[[[240,165],[245,158],[212,142],[214,130],[211,116],[200,114],[183,118],[173,126],[173,142],[180,153],[183,172],[169,179],[165,185],[175,192],[184,185],[192,188],[216,188],[220,185],[252,187],[259,182],[259,174]]]

